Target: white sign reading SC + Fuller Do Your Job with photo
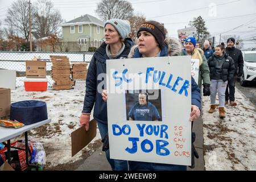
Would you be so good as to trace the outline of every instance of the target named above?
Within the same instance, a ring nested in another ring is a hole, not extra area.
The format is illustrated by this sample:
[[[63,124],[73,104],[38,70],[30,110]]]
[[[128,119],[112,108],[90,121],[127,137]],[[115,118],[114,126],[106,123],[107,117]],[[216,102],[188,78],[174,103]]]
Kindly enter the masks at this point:
[[[107,60],[106,73],[110,158],[190,166],[191,56]]]

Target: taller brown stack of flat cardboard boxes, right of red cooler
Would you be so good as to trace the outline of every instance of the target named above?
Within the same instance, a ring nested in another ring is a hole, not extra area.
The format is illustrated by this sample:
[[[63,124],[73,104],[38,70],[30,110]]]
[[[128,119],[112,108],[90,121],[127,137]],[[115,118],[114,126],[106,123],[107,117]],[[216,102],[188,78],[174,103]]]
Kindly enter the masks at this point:
[[[53,90],[73,89],[75,81],[71,79],[71,65],[67,56],[50,56],[52,61]]]

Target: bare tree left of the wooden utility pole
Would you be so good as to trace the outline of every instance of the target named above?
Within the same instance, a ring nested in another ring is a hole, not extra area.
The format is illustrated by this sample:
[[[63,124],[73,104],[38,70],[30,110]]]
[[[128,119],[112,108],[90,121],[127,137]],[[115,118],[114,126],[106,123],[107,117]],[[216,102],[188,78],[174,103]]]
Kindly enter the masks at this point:
[[[26,0],[16,0],[7,10],[5,19],[6,36],[22,36],[28,41],[29,22],[28,22],[28,3]]]

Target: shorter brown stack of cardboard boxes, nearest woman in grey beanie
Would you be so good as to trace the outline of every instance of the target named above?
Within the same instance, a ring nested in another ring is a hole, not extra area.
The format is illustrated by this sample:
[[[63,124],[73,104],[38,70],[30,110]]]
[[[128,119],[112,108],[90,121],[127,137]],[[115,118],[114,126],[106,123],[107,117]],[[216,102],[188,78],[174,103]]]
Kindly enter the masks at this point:
[[[87,63],[74,62],[71,65],[73,80],[85,80],[87,75]]]

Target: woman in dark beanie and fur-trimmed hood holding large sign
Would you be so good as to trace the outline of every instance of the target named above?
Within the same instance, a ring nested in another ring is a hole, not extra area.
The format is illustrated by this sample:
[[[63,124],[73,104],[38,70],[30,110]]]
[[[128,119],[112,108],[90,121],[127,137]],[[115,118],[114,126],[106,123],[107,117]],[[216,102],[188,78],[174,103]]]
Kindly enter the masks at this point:
[[[182,46],[179,40],[166,39],[166,28],[158,22],[153,20],[143,22],[138,30],[138,42],[137,46],[131,49],[128,57],[162,57],[162,56],[179,56],[182,52]],[[201,98],[200,89],[195,80],[191,77],[191,118],[190,121],[198,118],[200,115]],[[103,100],[108,99],[106,90],[102,92]],[[144,171],[144,170],[186,170],[187,166],[151,163],[151,162],[137,162],[129,161],[129,167],[132,171]]]

